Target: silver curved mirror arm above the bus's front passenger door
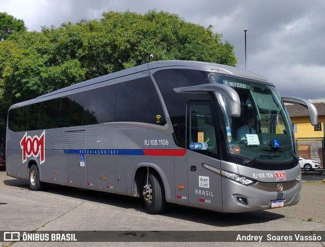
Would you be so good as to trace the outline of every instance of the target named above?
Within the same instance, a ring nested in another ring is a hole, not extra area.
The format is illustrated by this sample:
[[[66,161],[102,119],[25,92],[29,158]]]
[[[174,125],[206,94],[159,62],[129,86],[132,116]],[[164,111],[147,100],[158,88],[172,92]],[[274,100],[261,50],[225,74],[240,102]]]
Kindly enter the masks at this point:
[[[202,84],[190,87],[173,89],[176,93],[208,93],[218,92],[226,100],[226,108],[232,117],[240,117],[240,99],[238,93],[231,87],[223,84]]]

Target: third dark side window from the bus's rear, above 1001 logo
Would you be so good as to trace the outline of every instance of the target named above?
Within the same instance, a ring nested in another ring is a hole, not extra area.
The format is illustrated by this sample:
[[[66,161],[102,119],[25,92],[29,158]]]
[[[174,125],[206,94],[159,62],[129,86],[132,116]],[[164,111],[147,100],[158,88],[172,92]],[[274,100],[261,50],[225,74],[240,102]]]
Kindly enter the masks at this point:
[[[60,99],[41,102],[39,129],[57,128],[59,122]]]

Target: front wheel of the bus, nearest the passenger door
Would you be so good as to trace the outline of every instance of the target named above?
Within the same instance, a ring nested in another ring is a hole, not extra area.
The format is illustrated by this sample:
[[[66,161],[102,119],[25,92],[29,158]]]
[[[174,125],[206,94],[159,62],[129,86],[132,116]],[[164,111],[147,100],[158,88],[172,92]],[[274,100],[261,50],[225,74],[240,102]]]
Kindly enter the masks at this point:
[[[145,176],[143,197],[146,209],[150,214],[163,213],[166,203],[164,185],[157,173],[148,172]]]

